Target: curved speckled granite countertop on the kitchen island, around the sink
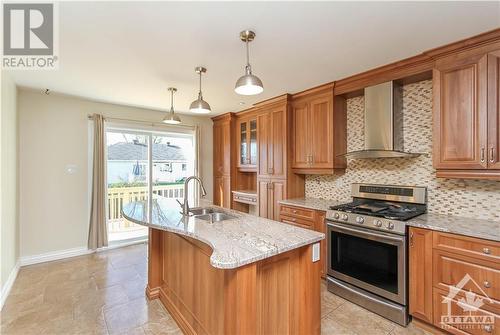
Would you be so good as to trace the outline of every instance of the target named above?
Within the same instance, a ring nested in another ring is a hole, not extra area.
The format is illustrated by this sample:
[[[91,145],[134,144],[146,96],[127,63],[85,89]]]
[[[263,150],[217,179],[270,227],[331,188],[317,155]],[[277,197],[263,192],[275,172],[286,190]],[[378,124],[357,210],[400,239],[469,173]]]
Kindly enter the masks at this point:
[[[219,269],[234,269],[305,245],[316,243],[325,234],[250,214],[209,206],[236,218],[209,223],[196,217],[183,217],[174,199],[153,199],[152,219],[145,201],[123,207],[123,216],[154,229],[188,236],[208,244],[213,253],[210,263]]]

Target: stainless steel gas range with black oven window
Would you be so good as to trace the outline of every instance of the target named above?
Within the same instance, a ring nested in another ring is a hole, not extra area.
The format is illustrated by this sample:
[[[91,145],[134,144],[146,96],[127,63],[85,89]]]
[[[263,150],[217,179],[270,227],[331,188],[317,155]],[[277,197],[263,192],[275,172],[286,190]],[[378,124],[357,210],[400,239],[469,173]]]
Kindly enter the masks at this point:
[[[353,184],[350,203],[327,211],[328,290],[408,323],[405,221],[427,210],[427,189]]]

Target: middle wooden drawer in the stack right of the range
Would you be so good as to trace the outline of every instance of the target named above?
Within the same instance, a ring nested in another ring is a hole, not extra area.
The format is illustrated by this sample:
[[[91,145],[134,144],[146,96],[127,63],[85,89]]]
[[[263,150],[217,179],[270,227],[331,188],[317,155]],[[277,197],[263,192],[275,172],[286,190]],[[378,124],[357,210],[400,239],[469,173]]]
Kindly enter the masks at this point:
[[[500,299],[500,270],[494,263],[435,250],[433,272],[435,287],[459,286],[464,291]],[[472,280],[467,280],[467,276]]]

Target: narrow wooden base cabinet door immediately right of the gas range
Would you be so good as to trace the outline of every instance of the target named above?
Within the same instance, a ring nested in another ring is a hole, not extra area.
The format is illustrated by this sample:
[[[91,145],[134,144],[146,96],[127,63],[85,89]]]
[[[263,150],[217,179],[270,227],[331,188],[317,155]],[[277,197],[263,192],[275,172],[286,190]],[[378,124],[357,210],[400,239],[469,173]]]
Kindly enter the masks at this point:
[[[410,228],[410,314],[432,323],[432,231]]]

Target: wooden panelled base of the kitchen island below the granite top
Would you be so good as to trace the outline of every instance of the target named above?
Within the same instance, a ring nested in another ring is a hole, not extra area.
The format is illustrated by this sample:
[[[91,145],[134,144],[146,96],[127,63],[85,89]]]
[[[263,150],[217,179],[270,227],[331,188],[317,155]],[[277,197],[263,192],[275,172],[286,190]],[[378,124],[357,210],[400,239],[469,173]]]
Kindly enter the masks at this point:
[[[151,230],[149,299],[160,298],[185,334],[320,334],[321,263],[312,245],[235,269],[212,249]]]

